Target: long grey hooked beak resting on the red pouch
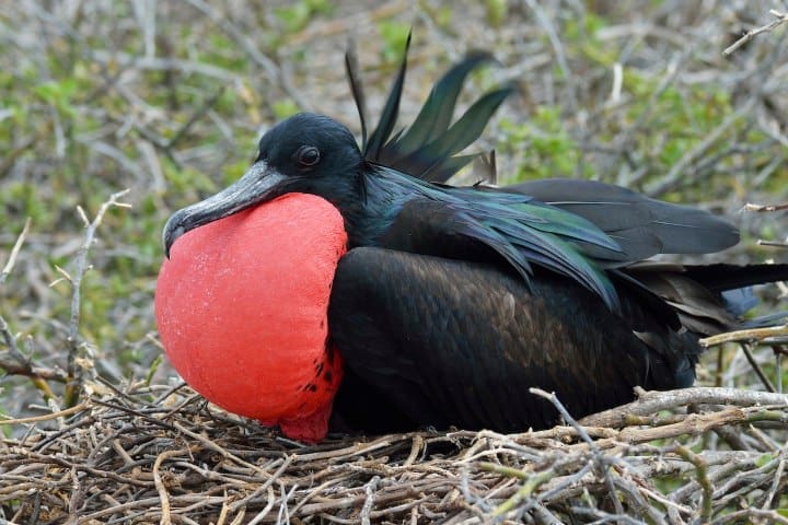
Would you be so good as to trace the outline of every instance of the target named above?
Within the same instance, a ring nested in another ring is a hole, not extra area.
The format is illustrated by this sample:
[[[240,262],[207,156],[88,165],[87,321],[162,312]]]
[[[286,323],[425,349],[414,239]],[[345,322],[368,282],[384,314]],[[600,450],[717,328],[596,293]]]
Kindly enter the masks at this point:
[[[170,258],[173,243],[189,230],[278,197],[280,192],[276,188],[285,179],[285,175],[265,161],[258,161],[243,177],[218,194],[176,211],[164,224],[162,232],[164,255]]]

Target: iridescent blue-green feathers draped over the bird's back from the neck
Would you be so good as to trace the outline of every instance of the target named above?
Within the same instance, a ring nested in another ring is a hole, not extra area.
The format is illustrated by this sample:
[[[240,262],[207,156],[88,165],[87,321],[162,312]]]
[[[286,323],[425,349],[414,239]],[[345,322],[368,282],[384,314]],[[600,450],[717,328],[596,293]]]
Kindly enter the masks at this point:
[[[616,253],[618,245],[584,219],[518,194],[494,194],[474,187],[436,186],[389,168],[366,178],[368,214],[360,223],[375,226],[359,245],[395,247],[445,257],[478,260],[482,245],[496,253],[529,283],[532,265],[576,280],[599,294],[613,311],[615,288],[589,257]],[[351,233],[352,238],[352,233]],[[393,242],[396,241],[395,244]],[[489,260],[485,258],[484,260]]]

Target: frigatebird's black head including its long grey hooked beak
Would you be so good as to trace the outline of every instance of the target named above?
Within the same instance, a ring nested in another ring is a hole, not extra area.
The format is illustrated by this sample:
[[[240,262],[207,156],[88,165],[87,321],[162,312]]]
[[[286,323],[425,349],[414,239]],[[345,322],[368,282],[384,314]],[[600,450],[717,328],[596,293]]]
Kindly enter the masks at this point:
[[[313,194],[341,211],[362,196],[364,160],[352,133],[336,120],[302,113],[274,126],[259,141],[250,170],[218,194],[170,217],[164,253],[197,226],[289,192]]]

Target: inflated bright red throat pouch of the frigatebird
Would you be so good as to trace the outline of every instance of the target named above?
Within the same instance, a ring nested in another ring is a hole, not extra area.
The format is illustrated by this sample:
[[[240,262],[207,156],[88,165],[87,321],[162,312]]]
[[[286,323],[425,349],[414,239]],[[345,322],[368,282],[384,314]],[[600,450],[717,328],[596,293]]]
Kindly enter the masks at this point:
[[[175,370],[228,411],[279,424],[288,438],[322,440],[341,380],[327,312],[346,246],[339,211],[306,194],[181,236],[154,300]]]

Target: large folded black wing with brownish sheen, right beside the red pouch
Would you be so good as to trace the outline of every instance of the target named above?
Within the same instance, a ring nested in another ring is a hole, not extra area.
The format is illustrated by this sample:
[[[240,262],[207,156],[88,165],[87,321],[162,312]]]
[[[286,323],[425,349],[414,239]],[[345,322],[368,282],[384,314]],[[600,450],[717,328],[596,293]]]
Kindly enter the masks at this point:
[[[692,381],[693,340],[648,313],[634,317],[648,325],[640,336],[549,273],[529,290],[490,265],[356,248],[339,262],[329,303],[348,377],[335,409],[352,420],[366,406],[370,431],[401,430],[399,421],[514,431],[557,418],[529,387],[556,392],[580,417],[630,400],[636,385]]]

